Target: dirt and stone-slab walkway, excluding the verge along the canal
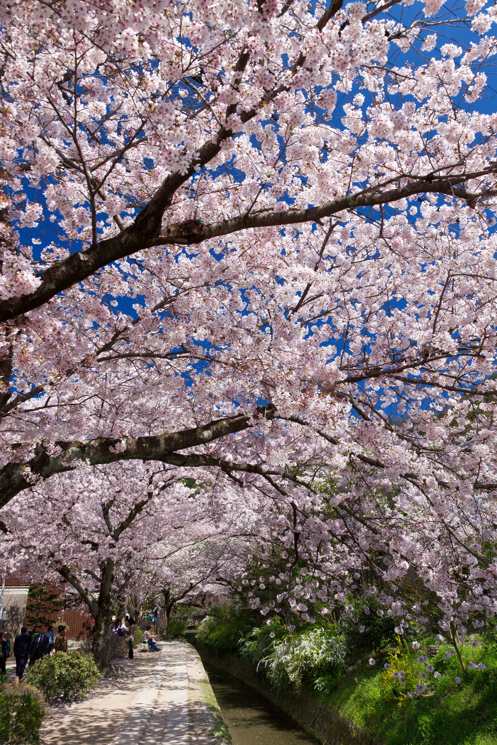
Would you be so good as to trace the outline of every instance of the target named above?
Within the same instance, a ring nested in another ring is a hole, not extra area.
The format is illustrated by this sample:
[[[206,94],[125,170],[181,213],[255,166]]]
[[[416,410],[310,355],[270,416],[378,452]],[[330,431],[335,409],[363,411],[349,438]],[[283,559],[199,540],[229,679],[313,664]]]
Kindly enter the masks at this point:
[[[166,641],[159,655],[136,655],[117,686],[104,684],[88,700],[54,711],[42,743],[189,745],[188,697],[185,644]]]

